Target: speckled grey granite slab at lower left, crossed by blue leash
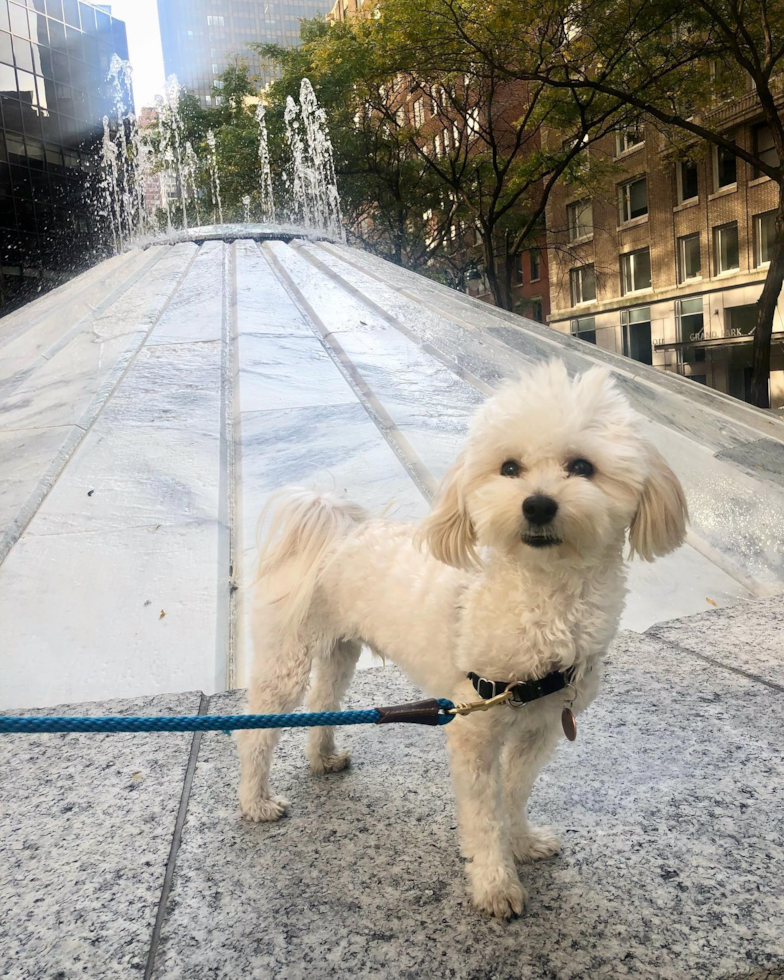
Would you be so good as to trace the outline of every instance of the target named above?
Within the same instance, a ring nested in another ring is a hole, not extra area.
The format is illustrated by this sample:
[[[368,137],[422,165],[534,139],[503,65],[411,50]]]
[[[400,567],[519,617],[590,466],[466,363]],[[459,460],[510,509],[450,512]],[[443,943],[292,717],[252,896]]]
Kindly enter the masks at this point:
[[[191,692],[54,713],[197,714],[200,702]],[[0,735],[5,980],[144,975],[192,741]]]

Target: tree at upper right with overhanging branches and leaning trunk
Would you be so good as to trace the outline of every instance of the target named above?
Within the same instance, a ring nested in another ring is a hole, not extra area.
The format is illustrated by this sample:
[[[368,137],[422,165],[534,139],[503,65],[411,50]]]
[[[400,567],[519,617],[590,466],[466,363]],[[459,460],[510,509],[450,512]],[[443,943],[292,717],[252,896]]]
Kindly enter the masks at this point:
[[[510,79],[638,113],[684,152],[706,142],[775,181],[770,264],[757,304],[752,401],[769,407],[773,317],[784,283],[784,4],[768,0],[423,0],[441,46],[466,45]],[[431,31],[432,33],[432,31]],[[530,51],[542,53],[531,65]],[[421,49],[420,49],[421,50]],[[407,52],[416,57],[417,45]],[[753,92],[775,156],[736,145],[721,106]]]

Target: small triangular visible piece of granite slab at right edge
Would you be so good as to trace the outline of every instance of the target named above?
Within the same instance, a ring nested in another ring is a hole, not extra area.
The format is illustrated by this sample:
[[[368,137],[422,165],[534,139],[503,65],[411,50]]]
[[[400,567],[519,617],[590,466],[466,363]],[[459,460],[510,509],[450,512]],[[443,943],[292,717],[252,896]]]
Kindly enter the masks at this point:
[[[784,690],[784,607],[772,596],[652,626],[671,647],[744,671]]]

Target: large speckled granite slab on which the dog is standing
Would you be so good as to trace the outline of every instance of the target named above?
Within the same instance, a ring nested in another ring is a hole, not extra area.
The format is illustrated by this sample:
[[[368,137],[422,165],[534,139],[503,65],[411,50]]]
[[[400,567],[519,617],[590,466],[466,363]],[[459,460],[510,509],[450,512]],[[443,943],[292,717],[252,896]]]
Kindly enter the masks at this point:
[[[350,703],[408,700],[395,668]],[[238,693],[210,699],[233,712]],[[202,740],[153,976],[681,980],[784,963],[779,691],[622,634],[598,700],[536,785],[563,855],[521,867],[518,921],[470,906],[444,735],[347,729],[351,769],[312,777],[305,733],[273,769],[290,816],[248,825],[233,740]]]

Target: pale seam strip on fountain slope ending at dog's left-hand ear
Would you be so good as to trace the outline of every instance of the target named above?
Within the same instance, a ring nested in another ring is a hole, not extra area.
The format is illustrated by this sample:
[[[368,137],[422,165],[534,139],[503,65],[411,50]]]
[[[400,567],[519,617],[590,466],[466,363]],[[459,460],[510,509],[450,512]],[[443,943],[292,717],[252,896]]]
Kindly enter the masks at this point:
[[[360,405],[370,416],[371,421],[381,433],[397,459],[401,462],[416,488],[429,503],[438,489],[438,484],[433,474],[425,466],[414,447],[397,427],[395,420],[373,393],[348,354],[346,354],[343,347],[335,338],[335,335],[326,329],[319,315],[289,275],[288,270],[278,260],[277,255],[271,250],[265,249],[263,245],[261,247],[264,249],[263,254],[268,258],[281,282],[289,291],[301,312],[305,314],[307,322],[312,325],[316,337],[321,341],[327,354],[341,375],[346,379],[351,389],[355,392]]]

